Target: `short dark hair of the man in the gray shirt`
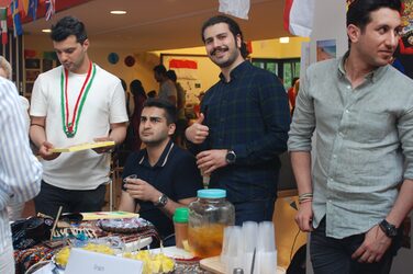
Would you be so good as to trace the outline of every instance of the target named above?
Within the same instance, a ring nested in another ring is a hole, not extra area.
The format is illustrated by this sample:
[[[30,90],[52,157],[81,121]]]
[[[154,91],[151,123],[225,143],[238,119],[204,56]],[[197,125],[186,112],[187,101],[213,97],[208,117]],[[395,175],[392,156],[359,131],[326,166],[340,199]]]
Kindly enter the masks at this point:
[[[381,8],[401,12],[402,3],[400,0],[355,0],[348,5],[346,25],[354,24],[364,32],[371,22],[370,13]]]

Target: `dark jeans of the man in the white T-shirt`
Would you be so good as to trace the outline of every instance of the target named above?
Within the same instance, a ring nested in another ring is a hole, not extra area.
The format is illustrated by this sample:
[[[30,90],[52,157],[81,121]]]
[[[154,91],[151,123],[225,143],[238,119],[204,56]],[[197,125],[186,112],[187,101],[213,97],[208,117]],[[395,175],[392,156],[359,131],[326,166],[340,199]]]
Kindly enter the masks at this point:
[[[64,190],[42,181],[41,193],[34,198],[36,213],[56,217],[59,206],[62,213],[100,212],[104,204],[107,185],[101,184],[96,190],[72,191]]]

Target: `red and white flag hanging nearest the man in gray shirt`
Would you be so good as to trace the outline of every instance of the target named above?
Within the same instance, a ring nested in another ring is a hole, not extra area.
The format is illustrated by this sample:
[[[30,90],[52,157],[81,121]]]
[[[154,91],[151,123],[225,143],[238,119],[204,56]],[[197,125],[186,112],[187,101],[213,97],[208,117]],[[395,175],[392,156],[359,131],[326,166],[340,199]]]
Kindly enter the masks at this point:
[[[293,35],[309,37],[313,27],[315,0],[286,0],[284,30]]]

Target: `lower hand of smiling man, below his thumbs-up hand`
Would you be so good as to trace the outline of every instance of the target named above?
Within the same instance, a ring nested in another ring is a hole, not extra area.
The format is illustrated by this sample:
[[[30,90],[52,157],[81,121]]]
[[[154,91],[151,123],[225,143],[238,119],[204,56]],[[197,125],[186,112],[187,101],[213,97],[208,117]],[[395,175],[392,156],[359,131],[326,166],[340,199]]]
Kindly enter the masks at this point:
[[[197,155],[197,164],[202,174],[209,175],[214,170],[225,167],[226,162],[226,149],[211,149],[205,150]]]

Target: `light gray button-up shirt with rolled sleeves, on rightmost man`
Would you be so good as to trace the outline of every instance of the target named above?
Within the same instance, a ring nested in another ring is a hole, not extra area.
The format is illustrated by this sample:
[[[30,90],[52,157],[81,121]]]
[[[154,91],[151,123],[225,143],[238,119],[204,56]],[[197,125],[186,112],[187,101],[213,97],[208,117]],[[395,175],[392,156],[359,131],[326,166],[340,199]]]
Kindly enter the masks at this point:
[[[413,81],[384,66],[351,89],[341,58],[311,66],[300,85],[288,146],[311,151],[315,129],[313,226],[326,216],[328,237],[366,232],[413,179]]]

